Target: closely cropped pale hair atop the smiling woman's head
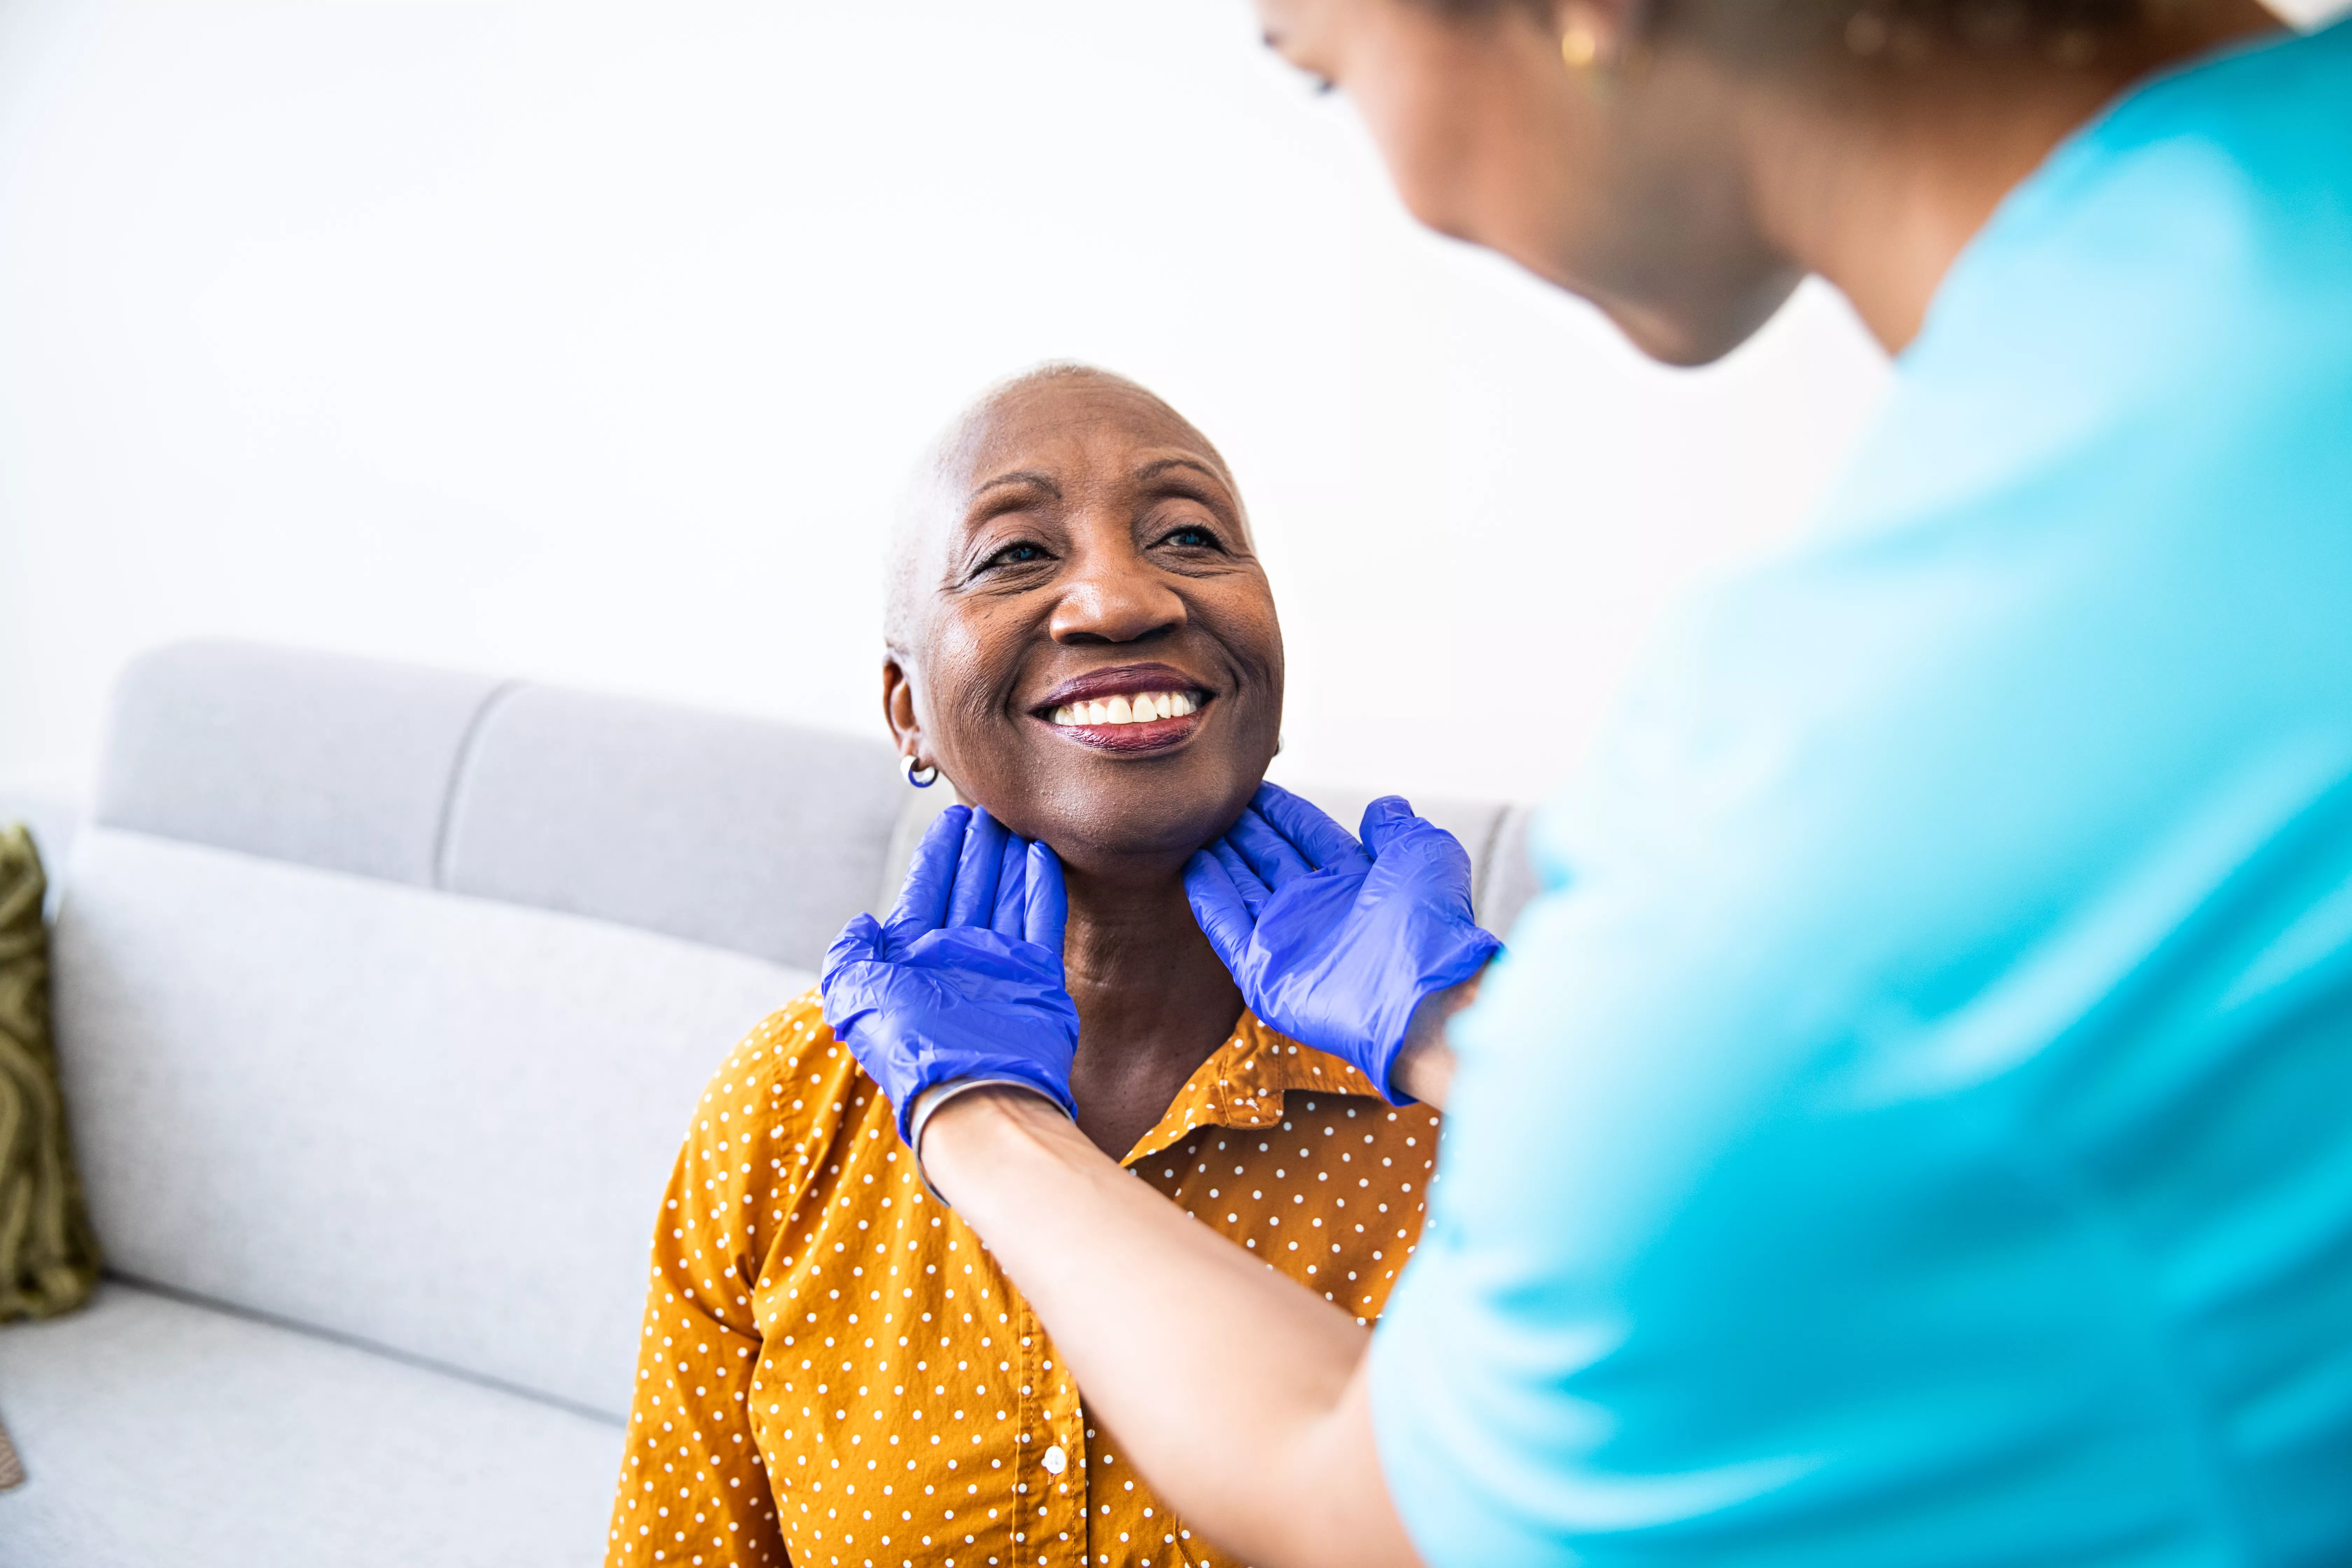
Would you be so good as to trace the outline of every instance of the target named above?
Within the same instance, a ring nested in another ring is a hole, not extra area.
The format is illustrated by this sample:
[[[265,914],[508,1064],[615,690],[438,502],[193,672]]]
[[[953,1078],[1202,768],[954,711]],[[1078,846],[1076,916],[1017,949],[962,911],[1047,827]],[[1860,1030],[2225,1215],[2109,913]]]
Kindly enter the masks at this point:
[[[1117,423],[1136,435],[1192,447],[1232,487],[1225,458],[1164,397],[1091,364],[1054,362],[981,393],[924,449],[891,529],[882,583],[882,639],[901,658],[913,651],[922,588],[941,574],[941,548],[964,520],[974,491],[1011,449],[1037,430]],[[988,473],[983,473],[983,468]],[[1237,489],[1237,487],[1235,487]]]

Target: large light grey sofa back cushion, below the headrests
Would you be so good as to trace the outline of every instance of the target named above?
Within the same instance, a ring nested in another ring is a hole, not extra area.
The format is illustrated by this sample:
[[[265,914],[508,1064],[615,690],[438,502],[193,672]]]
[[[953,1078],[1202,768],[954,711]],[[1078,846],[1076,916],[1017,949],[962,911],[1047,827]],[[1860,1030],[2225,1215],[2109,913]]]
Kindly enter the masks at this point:
[[[108,827],[54,973],[115,1269],[614,1415],[687,1114],[811,983]]]

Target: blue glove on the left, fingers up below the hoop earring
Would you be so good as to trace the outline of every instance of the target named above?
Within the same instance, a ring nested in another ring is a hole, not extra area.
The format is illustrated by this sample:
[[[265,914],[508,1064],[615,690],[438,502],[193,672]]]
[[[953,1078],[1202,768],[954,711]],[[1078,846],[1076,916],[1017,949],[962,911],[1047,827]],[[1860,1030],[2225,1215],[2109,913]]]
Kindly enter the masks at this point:
[[[985,811],[948,806],[915,849],[889,919],[851,919],[826,952],[826,1023],[910,1135],[915,1100],[955,1079],[1021,1084],[1073,1119],[1077,1004],[1063,985],[1061,860]]]

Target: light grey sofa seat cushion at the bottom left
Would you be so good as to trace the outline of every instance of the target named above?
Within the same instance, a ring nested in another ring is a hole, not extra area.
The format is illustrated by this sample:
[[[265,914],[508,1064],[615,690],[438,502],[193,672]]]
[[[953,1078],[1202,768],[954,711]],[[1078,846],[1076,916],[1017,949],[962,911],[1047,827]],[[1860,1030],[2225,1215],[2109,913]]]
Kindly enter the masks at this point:
[[[579,1568],[621,1427],[120,1281],[0,1333],[7,1568]]]

